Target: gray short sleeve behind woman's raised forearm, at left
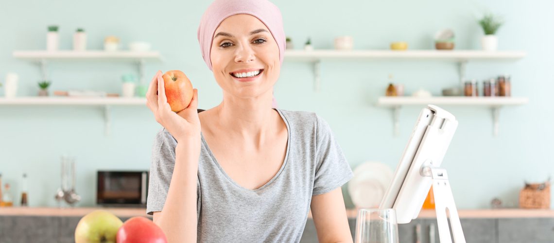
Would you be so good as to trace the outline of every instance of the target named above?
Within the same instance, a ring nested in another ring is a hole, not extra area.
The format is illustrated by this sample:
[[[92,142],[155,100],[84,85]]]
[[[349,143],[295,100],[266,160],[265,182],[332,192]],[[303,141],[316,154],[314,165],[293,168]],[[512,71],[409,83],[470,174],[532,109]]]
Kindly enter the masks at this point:
[[[152,215],[161,211],[170,188],[173,168],[175,167],[175,148],[177,141],[169,132],[162,128],[157,133],[152,146],[152,162],[150,178],[148,178],[148,198],[146,213]]]

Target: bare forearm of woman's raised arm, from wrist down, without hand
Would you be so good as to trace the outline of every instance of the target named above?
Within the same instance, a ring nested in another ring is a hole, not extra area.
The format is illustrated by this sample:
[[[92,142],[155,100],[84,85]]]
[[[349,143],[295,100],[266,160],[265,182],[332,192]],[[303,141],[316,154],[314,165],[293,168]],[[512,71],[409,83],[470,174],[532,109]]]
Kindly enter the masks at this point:
[[[175,148],[175,169],[166,202],[162,211],[153,215],[154,223],[165,232],[168,242],[196,242],[199,154],[198,141],[180,142]]]

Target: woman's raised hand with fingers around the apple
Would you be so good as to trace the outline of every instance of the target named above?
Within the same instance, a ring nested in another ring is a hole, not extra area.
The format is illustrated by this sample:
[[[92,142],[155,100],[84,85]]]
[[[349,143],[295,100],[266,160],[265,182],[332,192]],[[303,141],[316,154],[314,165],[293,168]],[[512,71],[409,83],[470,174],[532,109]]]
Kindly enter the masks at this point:
[[[171,133],[177,143],[191,141],[191,139],[200,140],[201,126],[197,111],[198,90],[194,89],[193,91],[191,104],[177,113],[171,111],[171,106],[167,103],[162,71],[156,73],[146,92],[146,106],[154,113],[156,121]]]

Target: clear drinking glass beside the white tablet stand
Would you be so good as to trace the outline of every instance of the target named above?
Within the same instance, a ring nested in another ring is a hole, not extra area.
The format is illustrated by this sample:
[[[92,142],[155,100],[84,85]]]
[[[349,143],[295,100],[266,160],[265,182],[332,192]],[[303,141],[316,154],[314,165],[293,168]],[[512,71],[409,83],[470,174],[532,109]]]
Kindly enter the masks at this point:
[[[355,243],[398,243],[394,209],[360,209],[356,218]]]

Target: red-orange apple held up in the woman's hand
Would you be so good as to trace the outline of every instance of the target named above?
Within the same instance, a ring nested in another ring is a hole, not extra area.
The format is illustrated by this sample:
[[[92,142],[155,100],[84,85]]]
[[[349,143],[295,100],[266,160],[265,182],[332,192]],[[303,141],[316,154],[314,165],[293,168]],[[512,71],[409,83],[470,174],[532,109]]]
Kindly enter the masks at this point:
[[[179,112],[187,108],[192,100],[192,84],[187,75],[182,71],[171,70],[163,74],[167,102],[173,112]]]

